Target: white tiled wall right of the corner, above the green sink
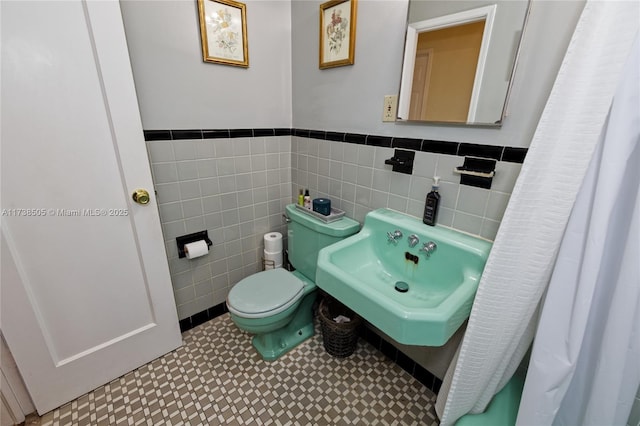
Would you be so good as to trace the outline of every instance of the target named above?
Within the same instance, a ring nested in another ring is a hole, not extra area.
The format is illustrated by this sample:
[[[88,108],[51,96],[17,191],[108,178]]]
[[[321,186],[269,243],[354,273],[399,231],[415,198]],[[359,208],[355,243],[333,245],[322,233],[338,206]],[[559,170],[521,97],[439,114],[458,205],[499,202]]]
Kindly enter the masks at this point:
[[[440,176],[438,223],[493,240],[521,165],[498,162],[490,190],[460,185],[453,173],[463,158],[416,152],[412,175],[395,173],[384,160],[392,148],[292,136],[291,194],[309,188],[360,222],[377,208],[388,207],[421,218],[433,176]]]

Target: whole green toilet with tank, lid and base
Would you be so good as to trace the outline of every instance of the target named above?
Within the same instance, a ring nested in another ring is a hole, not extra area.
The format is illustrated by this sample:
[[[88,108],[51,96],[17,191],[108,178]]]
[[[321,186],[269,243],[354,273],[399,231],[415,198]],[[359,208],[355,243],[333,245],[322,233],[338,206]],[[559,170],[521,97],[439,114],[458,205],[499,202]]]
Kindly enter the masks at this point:
[[[266,361],[273,361],[313,336],[313,302],[316,298],[318,252],[360,229],[343,217],[330,223],[286,207],[289,261],[296,268],[258,272],[240,280],[229,291],[227,308],[241,330],[253,334],[254,348]]]

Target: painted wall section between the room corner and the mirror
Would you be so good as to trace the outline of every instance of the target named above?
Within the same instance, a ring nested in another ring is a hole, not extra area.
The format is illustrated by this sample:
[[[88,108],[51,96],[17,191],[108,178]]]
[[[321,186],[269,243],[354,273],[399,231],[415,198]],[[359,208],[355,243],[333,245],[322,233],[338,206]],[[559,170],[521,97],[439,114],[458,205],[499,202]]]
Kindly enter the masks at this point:
[[[321,3],[292,5],[294,127],[392,134],[393,125],[380,122],[382,100],[398,93],[407,2],[359,1],[355,64],[324,70],[318,68]]]

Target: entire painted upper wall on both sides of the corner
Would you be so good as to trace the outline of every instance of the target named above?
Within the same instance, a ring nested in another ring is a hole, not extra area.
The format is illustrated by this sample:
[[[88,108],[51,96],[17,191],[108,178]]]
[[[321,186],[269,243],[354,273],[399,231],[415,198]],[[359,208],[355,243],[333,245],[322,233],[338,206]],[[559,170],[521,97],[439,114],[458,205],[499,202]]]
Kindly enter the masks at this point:
[[[248,69],[204,63],[195,1],[123,0],[145,129],[296,127],[527,147],[584,0],[534,2],[502,128],[382,123],[407,0],[360,0],[355,64],[318,68],[322,0],[246,2]]]

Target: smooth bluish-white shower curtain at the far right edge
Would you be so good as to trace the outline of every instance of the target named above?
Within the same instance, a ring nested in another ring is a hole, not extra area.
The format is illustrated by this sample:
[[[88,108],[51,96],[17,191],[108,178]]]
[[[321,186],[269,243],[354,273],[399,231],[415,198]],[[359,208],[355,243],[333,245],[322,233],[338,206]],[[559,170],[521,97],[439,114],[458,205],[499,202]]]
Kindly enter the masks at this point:
[[[518,425],[626,425],[640,385],[639,43],[560,247]]]

